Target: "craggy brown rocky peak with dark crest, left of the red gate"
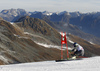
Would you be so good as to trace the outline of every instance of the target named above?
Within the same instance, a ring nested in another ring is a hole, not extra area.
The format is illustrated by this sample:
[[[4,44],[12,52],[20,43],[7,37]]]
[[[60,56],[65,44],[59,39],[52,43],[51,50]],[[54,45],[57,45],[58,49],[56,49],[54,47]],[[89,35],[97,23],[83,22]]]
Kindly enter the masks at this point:
[[[18,19],[16,22],[20,22],[17,23],[17,25],[23,28],[25,32],[38,32],[37,34],[41,37],[49,39],[49,41],[52,42],[51,44],[60,44],[60,34],[45,21],[37,18],[31,18],[29,16],[24,16]],[[47,43],[47,41],[45,43]]]

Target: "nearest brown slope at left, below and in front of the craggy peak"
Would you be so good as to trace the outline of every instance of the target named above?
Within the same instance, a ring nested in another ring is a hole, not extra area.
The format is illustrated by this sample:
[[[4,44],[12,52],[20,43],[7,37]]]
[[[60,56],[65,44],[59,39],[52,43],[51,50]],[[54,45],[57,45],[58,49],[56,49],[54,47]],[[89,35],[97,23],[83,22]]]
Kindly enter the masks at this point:
[[[36,21],[38,22],[38,19]],[[27,22],[26,24],[30,25]],[[36,31],[39,32],[38,29]],[[41,30],[40,32],[42,33]],[[56,31],[54,34],[55,36],[56,34],[57,36],[60,35]],[[41,39],[39,40],[39,38]],[[40,46],[35,42],[36,39],[38,39],[37,41],[43,42],[44,40],[44,42],[47,41],[49,43],[49,40],[39,37],[37,34],[26,34],[15,23],[0,20],[0,64],[54,60],[60,57],[60,50]],[[59,38],[58,40],[60,41]]]

